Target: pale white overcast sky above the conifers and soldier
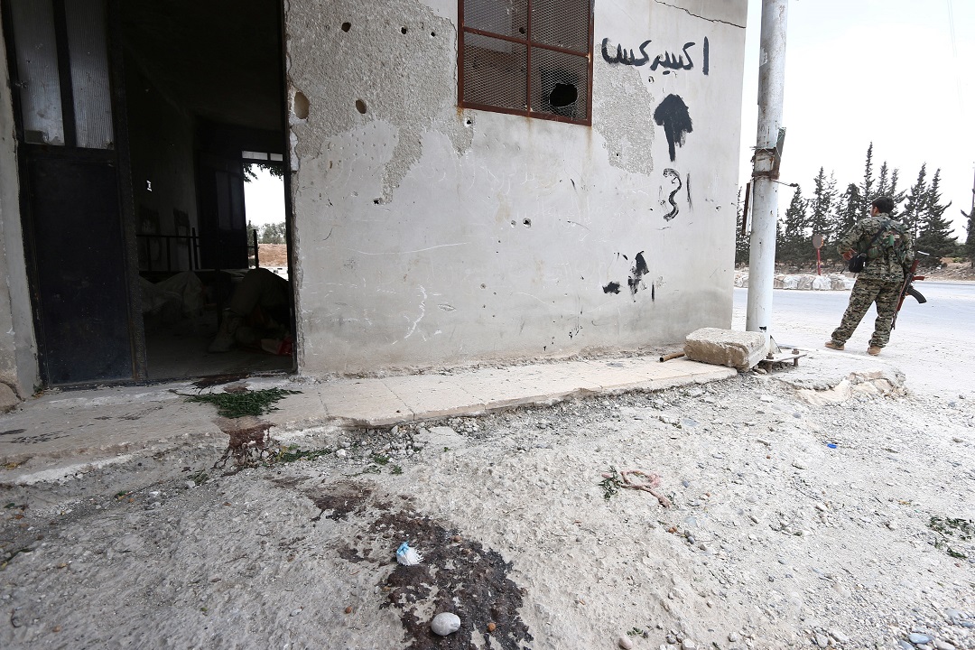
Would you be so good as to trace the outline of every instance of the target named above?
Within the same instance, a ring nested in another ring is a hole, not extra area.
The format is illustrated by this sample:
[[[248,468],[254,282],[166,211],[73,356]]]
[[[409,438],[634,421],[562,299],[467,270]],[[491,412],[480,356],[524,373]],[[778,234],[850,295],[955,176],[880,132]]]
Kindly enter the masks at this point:
[[[790,0],[781,175],[808,197],[823,167],[839,191],[887,161],[898,186],[941,169],[945,212],[964,242],[975,184],[975,2]],[[749,0],[742,96],[741,184],[752,172],[758,123],[761,0]],[[779,210],[795,190],[779,188]]]

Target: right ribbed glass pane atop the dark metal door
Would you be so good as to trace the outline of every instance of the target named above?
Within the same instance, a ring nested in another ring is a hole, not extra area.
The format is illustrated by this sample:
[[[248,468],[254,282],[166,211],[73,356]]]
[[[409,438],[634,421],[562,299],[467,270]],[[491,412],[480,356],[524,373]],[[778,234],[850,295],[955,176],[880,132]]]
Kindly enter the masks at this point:
[[[78,146],[110,149],[115,138],[104,5],[101,0],[65,0],[64,14]]]

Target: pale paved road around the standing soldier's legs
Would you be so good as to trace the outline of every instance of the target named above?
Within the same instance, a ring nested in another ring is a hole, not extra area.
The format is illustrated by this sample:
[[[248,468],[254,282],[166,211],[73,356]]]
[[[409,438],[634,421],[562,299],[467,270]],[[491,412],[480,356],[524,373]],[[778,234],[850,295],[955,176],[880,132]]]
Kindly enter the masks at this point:
[[[975,396],[975,283],[918,282],[928,302],[908,298],[881,357],[907,375],[908,387],[945,396]],[[772,336],[785,347],[822,349],[839,325],[849,291],[776,289]],[[734,289],[732,327],[745,328],[748,289]],[[871,308],[844,354],[867,354],[877,312]]]

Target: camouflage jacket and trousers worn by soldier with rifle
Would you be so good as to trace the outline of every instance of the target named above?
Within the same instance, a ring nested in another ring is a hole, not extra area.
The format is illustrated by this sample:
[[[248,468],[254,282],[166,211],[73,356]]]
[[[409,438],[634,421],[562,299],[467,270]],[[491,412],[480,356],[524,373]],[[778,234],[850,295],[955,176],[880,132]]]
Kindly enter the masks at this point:
[[[866,250],[880,229],[883,219],[891,219],[890,214],[880,212],[877,216],[868,216],[858,221],[853,229],[839,240],[837,246],[839,254],[850,249]],[[895,219],[891,220],[900,223]],[[907,253],[904,264],[910,268],[914,260],[914,243],[910,234],[903,235],[903,243]],[[890,325],[894,320],[894,312],[897,311],[897,300],[900,297],[901,286],[904,284],[904,274],[905,267],[897,259],[897,254],[892,248],[884,248],[879,257],[868,260],[850,292],[850,301],[843,314],[843,320],[833,332],[834,343],[840,345],[845,343],[853,335],[857,325],[860,325],[870,306],[876,303],[877,320],[874,322],[874,335],[870,338],[870,344],[878,348],[885,346],[890,341]]]

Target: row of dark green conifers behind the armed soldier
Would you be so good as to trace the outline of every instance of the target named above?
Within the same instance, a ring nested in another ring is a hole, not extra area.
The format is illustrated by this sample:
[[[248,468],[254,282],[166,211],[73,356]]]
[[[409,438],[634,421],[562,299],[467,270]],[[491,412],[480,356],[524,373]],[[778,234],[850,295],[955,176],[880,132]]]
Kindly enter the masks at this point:
[[[951,221],[945,212],[951,202],[945,204],[941,196],[941,170],[929,173],[927,164],[920,167],[917,180],[904,186],[897,168],[891,169],[887,161],[874,169],[874,143],[867,148],[867,160],[863,178],[839,189],[833,172],[827,176],[824,168],[812,180],[812,191],[806,196],[801,186],[796,186],[792,200],[776,224],[775,261],[786,264],[808,264],[815,259],[813,236],[823,236],[820,254],[826,263],[839,263],[837,243],[856,221],[866,216],[870,205],[880,196],[894,200],[894,218],[902,221],[915,241],[915,249],[929,253],[922,263],[940,263],[942,257],[969,257],[975,259],[975,214],[962,214],[968,219],[968,237],[964,245],[952,235]],[[749,232],[742,232],[743,206],[738,193],[738,229],[735,241],[735,263],[747,264],[749,259]]]

